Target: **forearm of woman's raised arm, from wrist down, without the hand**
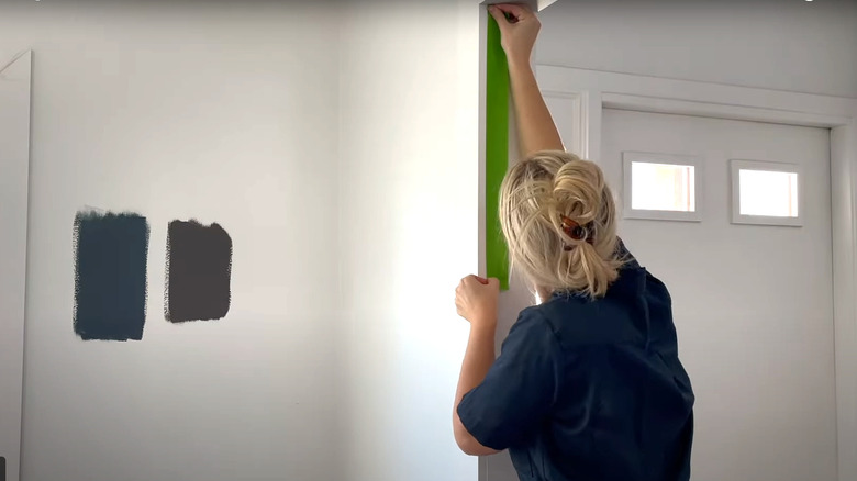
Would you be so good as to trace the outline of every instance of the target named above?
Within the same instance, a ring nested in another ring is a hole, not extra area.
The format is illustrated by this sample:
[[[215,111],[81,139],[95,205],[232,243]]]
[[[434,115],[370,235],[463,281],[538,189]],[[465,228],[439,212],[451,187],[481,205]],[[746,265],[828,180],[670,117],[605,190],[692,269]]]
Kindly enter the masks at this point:
[[[565,150],[530,61],[510,58],[509,80],[522,158],[539,150]]]

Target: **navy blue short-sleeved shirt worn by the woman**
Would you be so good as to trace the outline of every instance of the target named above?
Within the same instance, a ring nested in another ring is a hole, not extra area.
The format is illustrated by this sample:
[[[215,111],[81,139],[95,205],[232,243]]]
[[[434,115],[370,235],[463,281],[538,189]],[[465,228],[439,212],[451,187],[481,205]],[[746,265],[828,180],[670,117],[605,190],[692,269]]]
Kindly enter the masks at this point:
[[[458,415],[482,446],[509,449],[524,481],[678,481],[693,402],[669,292],[632,258],[603,298],[521,312]]]

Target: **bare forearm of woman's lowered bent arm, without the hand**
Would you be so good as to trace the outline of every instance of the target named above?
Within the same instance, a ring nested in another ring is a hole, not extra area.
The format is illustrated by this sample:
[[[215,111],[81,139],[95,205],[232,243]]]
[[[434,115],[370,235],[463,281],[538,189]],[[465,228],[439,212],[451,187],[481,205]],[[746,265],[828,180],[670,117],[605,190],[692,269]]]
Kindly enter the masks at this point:
[[[471,326],[470,337],[467,342],[467,351],[461,362],[461,372],[458,376],[458,389],[455,393],[455,409],[453,410],[453,428],[455,440],[468,455],[490,455],[494,449],[481,446],[474,438],[458,417],[458,404],[461,399],[485,380],[488,370],[494,361],[494,325]]]

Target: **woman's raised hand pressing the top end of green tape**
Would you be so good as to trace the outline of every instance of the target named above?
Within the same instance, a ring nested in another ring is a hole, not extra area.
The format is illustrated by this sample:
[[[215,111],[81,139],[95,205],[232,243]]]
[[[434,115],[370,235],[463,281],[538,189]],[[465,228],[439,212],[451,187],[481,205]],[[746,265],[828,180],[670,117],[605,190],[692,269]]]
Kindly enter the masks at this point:
[[[500,25],[503,51],[510,65],[530,65],[542,23],[526,5],[491,5],[488,11]]]

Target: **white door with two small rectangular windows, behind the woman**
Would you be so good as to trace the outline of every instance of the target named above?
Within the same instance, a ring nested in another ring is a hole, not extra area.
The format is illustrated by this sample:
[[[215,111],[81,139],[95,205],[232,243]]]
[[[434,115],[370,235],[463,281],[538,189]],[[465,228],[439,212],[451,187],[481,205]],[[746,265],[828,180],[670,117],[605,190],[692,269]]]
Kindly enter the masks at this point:
[[[626,219],[628,248],[669,287],[698,404],[695,481],[836,478],[830,131],[605,109],[602,165],[697,156],[700,222]],[[803,226],[731,223],[730,159],[802,167]]]

